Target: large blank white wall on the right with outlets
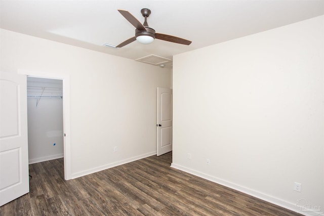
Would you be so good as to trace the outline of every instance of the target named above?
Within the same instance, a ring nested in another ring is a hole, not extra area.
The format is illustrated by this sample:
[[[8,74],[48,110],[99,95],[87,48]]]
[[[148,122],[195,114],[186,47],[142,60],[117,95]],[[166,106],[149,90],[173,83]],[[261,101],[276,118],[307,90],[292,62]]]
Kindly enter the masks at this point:
[[[172,166],[323,209],[323,29],[320,16],[174,56]]]

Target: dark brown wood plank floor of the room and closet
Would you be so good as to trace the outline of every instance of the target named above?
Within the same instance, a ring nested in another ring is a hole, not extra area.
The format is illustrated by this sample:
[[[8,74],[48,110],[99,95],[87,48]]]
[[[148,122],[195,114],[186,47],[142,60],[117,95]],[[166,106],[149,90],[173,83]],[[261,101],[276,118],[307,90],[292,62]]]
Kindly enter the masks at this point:
[[[30,164],[30,193],[0,215],[301,215],[171,168],[172,152],[65,181],[63,158]]]

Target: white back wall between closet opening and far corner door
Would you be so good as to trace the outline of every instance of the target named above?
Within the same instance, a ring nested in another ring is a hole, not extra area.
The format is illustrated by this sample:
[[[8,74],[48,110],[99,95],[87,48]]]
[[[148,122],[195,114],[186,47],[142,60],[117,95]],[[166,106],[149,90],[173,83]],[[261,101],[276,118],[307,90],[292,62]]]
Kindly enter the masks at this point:
[[[170,69],[4,29],[0,51],[3,71],[69,76],[71,178],[156,153],[156,88],[170,88]]]

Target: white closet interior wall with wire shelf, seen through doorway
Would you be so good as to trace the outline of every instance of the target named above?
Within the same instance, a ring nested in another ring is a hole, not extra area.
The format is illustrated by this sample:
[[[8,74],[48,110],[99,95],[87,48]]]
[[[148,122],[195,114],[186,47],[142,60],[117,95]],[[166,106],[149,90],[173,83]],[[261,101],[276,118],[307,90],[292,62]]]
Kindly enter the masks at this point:
[[[62,88],[62,80],[27,77],[29,164],[64,156]]]

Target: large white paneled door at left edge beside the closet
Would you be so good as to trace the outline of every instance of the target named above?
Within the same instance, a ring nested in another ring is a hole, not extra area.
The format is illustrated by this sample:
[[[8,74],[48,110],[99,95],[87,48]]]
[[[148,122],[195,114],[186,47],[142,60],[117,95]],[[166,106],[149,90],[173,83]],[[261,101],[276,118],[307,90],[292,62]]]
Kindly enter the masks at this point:
[[[0,72],[0,206],[29,192],[26,76]]]

